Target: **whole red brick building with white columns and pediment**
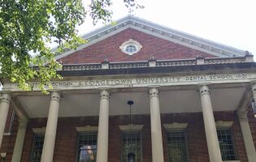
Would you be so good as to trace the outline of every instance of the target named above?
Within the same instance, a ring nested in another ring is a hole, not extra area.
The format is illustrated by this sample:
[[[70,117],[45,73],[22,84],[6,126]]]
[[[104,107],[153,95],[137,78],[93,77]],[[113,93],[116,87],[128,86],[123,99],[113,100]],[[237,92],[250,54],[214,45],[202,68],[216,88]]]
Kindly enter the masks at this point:
[[[1,162],[256,161],[248,52],[133,16],[83,37],[50,95],[1,80]]]

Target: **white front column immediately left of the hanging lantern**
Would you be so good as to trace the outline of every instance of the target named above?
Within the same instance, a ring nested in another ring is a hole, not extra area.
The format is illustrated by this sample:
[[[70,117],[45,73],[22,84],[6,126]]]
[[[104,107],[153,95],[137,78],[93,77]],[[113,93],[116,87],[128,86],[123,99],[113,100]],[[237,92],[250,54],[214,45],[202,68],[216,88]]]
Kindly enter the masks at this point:
[[[102,90],[98,120],[97,162],[107,162],[109,93]]]

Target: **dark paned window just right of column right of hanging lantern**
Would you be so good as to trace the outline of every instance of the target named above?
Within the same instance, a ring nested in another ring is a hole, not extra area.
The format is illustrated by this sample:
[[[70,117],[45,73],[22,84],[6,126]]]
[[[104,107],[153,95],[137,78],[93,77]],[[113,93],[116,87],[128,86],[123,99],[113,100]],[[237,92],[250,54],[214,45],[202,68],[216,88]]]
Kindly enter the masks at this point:
[[[168,162],[189,161],[187,139],[184,130],[169,130],[167,132]]]

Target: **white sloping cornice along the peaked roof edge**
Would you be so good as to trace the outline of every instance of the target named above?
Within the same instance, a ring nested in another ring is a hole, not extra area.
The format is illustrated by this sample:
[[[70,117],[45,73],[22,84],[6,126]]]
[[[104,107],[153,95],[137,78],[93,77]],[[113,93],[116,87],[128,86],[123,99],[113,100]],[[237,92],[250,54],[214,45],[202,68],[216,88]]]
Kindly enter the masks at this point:
[[[123,19],[117,20],[114,24],[108,24],[102,28],[93,30],[81,36],[83,39],[89,42],[84,45],[80,45],[77,49],[71,49],[64,53],[56,55],[56,59],[66,57],[67,55],[74,53],[80,49],[84,49],[89,45],[93,45],[100,40],[104,40],[109,36],[113,36],[118,32],[122,32],[125,29],[133,28],[147,34],[160,37],[165,40],[170,40],[180,45],[187,46],[189,48],[197,49],[204,53],[210,53],[219,58],[227,57],[243,57],[245,51],[241,49],[232,48],[228,45],[222,45],[215,41],[206,40],[202,37],[193,36],[186,32],[180,32],[178,30],[167,28],[163,25],[150,22],[145,19],[137,18],[133,15],[125,16]],[[52,49],[52,52],[56,52],[57,48]]]

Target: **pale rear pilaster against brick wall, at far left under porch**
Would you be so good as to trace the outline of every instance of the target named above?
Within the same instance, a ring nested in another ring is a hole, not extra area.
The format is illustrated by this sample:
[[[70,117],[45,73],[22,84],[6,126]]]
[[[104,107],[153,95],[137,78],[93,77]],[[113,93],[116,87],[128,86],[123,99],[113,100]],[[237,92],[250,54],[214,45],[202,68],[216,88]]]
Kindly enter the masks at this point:
[[[23,151],[23,144],[24,144],[28,120],[20,119],[19,122],[20,122],[20,125],[19,125],[18,132],[17,132],[15,147],[13,150],[11,162],[20,162],[20,158],[21,158],[22,151]]]

